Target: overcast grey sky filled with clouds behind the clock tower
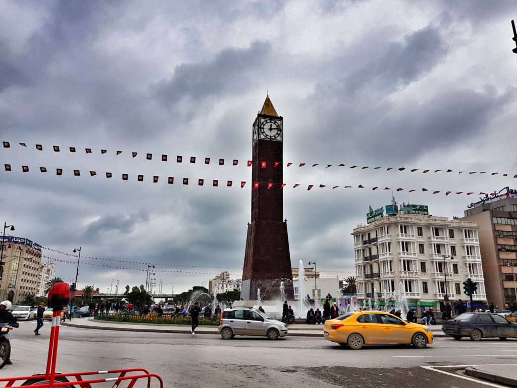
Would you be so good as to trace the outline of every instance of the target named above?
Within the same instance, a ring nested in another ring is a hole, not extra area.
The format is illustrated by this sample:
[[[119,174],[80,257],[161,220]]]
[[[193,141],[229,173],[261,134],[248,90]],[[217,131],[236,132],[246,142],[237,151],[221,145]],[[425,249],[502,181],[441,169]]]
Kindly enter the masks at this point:
[[[517,189],[512,19],[513,1],[1,2],[0,221],[68,261],[65,281],[81,247],[79,288],[145,283],[146,264],[119,261],[157,264],[164,292],[240,278],[269,92],[292,264],[351,275],[350,233],[392,190],[452,218],[478,192]]]

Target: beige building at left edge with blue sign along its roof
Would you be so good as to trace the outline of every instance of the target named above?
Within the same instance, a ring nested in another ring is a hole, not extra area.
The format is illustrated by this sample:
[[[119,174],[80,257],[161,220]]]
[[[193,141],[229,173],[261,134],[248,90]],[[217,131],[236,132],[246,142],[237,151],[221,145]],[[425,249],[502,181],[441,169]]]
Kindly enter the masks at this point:
[[[2,243],[0,300],[20,304],[26,296],[36,296],[38,292],[41,246],[27,238],[14,236],[6,236]]]

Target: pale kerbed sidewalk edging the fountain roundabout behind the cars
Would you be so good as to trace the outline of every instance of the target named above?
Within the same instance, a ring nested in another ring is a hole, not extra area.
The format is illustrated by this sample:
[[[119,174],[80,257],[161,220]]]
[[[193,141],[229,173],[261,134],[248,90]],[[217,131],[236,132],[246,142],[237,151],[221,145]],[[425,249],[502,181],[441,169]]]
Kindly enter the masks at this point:
[[[93,318],[74,318],[72,321],[61,322],[63,326],[80,327],[82,329],[115,330],[122,332],[172,333],[190,334],[189,325],[165,325],[148,323],[118,323],[112,321],[94,320]],[[441,325],[429,326],[434,338],[448,337],[442,332]],[[217,326],[198,326],[196,334],[218,334]],[[323,325],[296,323],[287,327],[290,337],[323,337]]]

